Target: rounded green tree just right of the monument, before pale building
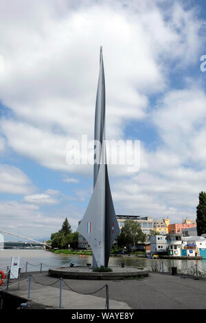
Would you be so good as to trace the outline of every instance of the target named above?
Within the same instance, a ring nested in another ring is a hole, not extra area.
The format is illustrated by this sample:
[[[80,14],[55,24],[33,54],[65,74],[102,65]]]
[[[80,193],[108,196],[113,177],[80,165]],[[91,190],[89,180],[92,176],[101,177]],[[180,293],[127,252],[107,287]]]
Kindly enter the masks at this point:
[[[117,245],[127,246],[133,245],[136,249],[136,244],[139,242],[146,241],[146,234],[141,231],[141,227],[137,221],[126,220],[124,227],[122,227],[121,232],[117,236]]]

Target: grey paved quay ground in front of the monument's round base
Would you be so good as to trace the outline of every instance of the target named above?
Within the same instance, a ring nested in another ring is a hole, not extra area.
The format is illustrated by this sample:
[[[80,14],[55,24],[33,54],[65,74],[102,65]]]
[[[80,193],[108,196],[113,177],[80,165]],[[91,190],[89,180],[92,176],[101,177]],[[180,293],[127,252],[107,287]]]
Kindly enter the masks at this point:
[[[38,282],[49,285],[56,281],[56,278],[47,274],[33,274]],[[104,286],[104,280],[65,280],[67,284],[76,291],[89,293]],[[183,276],[170,276],[150,273],[148,277],[139,280],[116,280],[109,281],[109,298],[120,303],[110,301],[114,308],[131,309],[206,309],[206,281],[183,278]],[[21,282],[20,293],[27,294],[28,282]],[[49,287],[49,295],[58,307],[58,283],[55,287]],[[48,288],[48,287],[47,287]],[[39,287],[32,283],[31,296],[40,301],[40,294],[43,295],[45,287]],[[63,289],[67,289],[63,284]],[[38,291],[41,293],[38,294]],[[69,292],[62,295],[62,304],[66,308],[76,309],[104,309],[105,289],[95,293],[94,296],[84,296]],[[98,297],[97,297],[98,296]],[[44,294],[46,298],[46,295]],[[91,298],[92,297],[92,298]],[[42,296],[41,296],[42,298]],[[57,298],[57,299],[56,299]],[[65,301],[64,299],[67,300]],[[84,298],[84,300],[83,300]],[[100,298],[98,300],[98,298]],[[54,299],[56,299],[54,301]],[[102,304],[103,302],[103,304]],[[101,305],[100,305],[101,303]],[[126,305],[127,304],[127,305]],[[115,307],[116,306],[116,307]]]

